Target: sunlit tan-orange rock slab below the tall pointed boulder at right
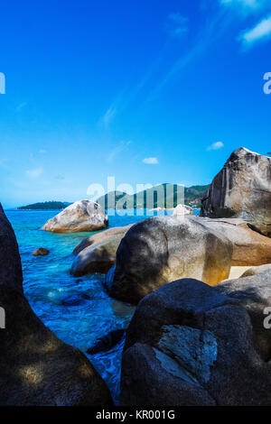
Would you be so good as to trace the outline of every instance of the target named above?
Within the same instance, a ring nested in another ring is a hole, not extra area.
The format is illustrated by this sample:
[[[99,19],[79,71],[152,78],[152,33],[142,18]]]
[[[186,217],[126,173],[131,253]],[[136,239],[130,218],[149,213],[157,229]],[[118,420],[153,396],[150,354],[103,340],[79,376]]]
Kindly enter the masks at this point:
[[[232,266],[271,263],[270,238],[253,231],[247,221],[238,218],[198,219],[212,231],[222,232],[233,244]]]

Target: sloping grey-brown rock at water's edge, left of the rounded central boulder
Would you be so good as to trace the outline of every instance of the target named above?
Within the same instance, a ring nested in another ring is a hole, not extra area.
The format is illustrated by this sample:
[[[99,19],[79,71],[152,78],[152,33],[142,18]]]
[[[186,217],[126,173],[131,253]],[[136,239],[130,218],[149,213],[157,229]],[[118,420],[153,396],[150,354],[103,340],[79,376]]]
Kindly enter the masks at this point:
[[[109,228],[84,239],[73,251],[77,256],[70,272],[75,276],[93,272],[107,273],[116,263],[117,248],[131,226]]]

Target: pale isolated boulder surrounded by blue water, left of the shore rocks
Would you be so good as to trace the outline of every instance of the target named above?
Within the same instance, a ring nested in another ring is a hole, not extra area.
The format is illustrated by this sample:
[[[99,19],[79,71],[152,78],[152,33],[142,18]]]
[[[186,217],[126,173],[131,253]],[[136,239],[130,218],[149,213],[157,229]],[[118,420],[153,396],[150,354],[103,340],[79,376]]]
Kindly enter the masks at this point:
[[[98,203],[91,200],[79,200],[49,219],[42,226],[42,230],[53,233],[76,233],[98,231],[107,226],[107,214]]]

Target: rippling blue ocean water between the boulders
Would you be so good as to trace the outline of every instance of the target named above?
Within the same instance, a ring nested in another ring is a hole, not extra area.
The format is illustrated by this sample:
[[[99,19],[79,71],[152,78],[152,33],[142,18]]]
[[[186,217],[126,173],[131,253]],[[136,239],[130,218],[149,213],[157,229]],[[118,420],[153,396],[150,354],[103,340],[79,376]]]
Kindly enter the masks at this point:
[[[129,304],[108,297],[104,275],[95,274],[75,278],[70,275],[73,249],[94,233],[54,234],[41,227],[59,211],[5,211],[14,227],[23,265],[23,290],[36,315],[58,337],[78,347],[105,379],[117,403],[121,353],[124,342],[108,352],[97,355],[86,353],[95,341],[109,331],[126,328],[135,311]],[[109,216],[109,227],[126,226],[139,222],[144,216]],[[164,212],[155,212],[164,215]],[[38,247],[50,250],[47,256],[33,256]],[[74,302],[74,300],[76,300]]]

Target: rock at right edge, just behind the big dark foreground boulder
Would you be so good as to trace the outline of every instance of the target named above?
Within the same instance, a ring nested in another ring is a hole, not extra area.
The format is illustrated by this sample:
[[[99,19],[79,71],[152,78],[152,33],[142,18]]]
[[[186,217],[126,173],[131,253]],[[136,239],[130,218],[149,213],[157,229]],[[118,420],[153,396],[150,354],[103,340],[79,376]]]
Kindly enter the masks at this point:
[[[260,355],[271,359],[271,329],[264,326],[266,315],[271,315],[271,269],[256,275],[223,281],[216,290],[238,301],[248,310]],[[265,309],[269,308],[265,313]],[[269,320],[271,323],[271,319]]]

